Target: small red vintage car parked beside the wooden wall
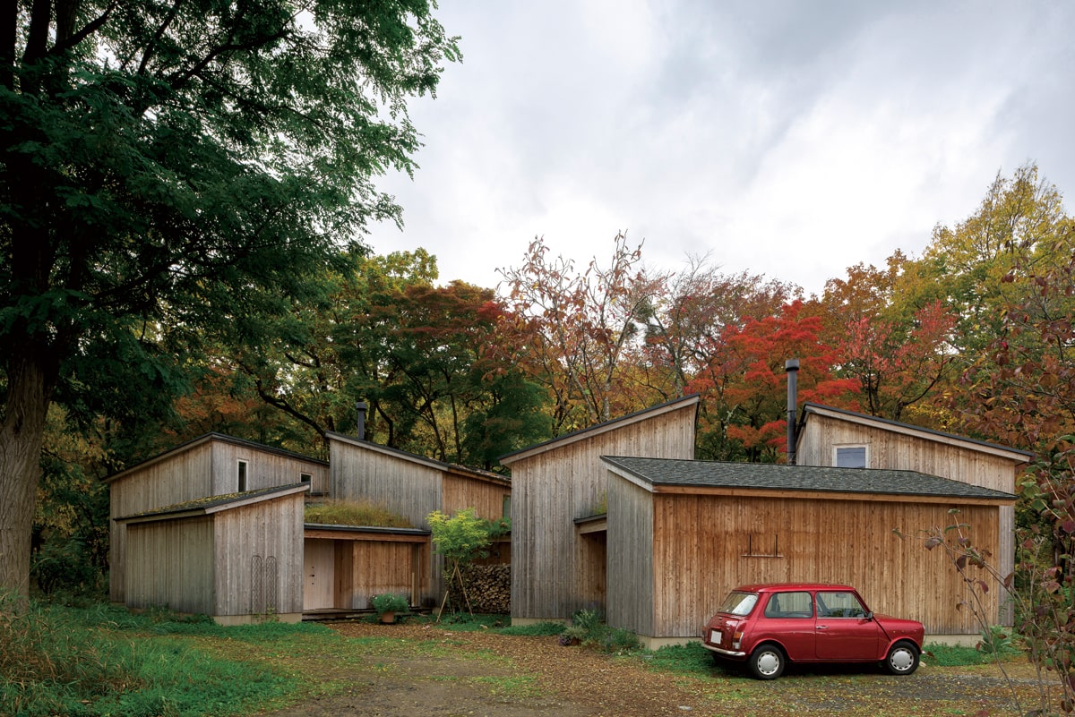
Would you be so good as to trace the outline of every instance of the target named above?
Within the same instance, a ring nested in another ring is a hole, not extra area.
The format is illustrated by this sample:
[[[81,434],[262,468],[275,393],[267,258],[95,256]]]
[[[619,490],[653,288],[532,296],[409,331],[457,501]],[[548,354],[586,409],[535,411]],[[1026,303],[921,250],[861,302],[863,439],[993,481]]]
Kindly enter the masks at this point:
[[[787,583],[732,590],[705,625],[719,661],[746,662],[776,679],[788,662],[879,662],[893,675],[918,669],[926,628],[870,612],[854,587]]]

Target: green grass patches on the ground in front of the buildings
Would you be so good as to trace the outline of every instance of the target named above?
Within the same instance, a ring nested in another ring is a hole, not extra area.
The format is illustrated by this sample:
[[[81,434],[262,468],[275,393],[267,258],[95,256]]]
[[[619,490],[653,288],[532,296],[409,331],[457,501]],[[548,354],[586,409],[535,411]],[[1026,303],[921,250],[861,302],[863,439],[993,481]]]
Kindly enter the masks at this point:
[[[428,617],[408,621],[433,628]],[[438,630],[554,635],[559,624],[508,627],[503,616],[449,618]],[[698,643],[657,653],[632,649],[615,631],[594,626],[590,644],[648,670],[707,677],[713,663]],[[206,618],[168,612],[132,615],[109,605],[63,608],[34,603],[22,615],[0,605],[0,714],[48,715],[248,715],[340,693],[348,675],[369,660],[408,654],[448,655],[452,643],[344,636],[320,625],[224,628]],[[937,664],[984,661],[971,648],[928,648]],[[483,659],[482,655],[476,655]],[[496,661],[496,656],[484,659]],[[325,665],[331,664],[326,671]],[[311,674],[317,679],[309,679]],[[474,677],[479,681],[478,677]],[[533,690],[527,675],[488,677],[489,689]]]

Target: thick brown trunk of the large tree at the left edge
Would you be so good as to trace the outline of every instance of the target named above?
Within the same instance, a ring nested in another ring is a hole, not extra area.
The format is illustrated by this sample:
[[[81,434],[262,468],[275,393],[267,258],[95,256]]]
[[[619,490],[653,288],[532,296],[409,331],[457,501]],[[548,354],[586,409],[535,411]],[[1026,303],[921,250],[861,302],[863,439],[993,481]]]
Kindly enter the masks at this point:
[[[55,363],[34,351],[32,343],[15,350],[9,359],[8,397],[0,422],[0,590],[13,590],[24,599],[30,589],[30,532],[41,445],[56,381],[49,364]]]

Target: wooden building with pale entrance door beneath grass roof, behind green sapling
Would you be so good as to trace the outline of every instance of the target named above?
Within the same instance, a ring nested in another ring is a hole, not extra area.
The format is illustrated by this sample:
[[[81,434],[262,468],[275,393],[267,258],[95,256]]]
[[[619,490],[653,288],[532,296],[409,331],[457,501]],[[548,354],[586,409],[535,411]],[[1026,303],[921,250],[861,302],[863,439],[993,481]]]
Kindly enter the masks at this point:
[[[425,536],[425,547],[417,543],[405,550],[402,538],[395,545],[377,548],[384,559],[390,559],[398,575],[396,584],[407,575],[404,583],[406,594],[413,604],[433,605],[444,595],[441,558],[429,545],[429,523],[426,517],[433,511],[454,515],[467,508],[488,521],[499,521],[510,516],[512,481],[498,473],[465,468],[455,464],[433,460],[425,456],[400,451],[387,445],[372,443],[353,436],[328,433],[329,439],[329,494],[333,498],[370,500],[385,506],[393,513],[406,517]],[[377,592],[386,591],[385,583],[369,582],[370,573],[361,566],[373,566],[373,554],[361,551],[373,550],[372,544],[363,547],[354,535],[343,533],[335,538],[327,535],[318,540],[328,543],[307,548],[307,576],[319,574],[322,584],[340,585],[331,596],[320,587],[315,587],[317,597],[311,598],[311,606],[326,608],[322,603],[331,599],[336,609],[363,609],[369,599]],[[368,542],[368,541],[367,541]],[[342,551],[342,554],[341,554]],[[500,551],[498,551],[500,553]],[[391,554],[391,555],[389,555]],[[341,555],[352,555],[353,564]],[[504,551],[492,559],[506,562],[510,553]],[[412,566],[421,565],[420,570]],[[391,591],[400,591],[393,589]]]

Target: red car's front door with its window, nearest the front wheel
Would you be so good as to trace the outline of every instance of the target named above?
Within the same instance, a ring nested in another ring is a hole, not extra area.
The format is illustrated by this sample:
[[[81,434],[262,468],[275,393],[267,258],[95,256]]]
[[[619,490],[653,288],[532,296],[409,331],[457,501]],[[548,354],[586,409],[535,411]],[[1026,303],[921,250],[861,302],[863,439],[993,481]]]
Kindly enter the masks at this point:
[[[875,660],[882,630],[859,597],[848,590],[818,590],[815,646],[819,660]]]

